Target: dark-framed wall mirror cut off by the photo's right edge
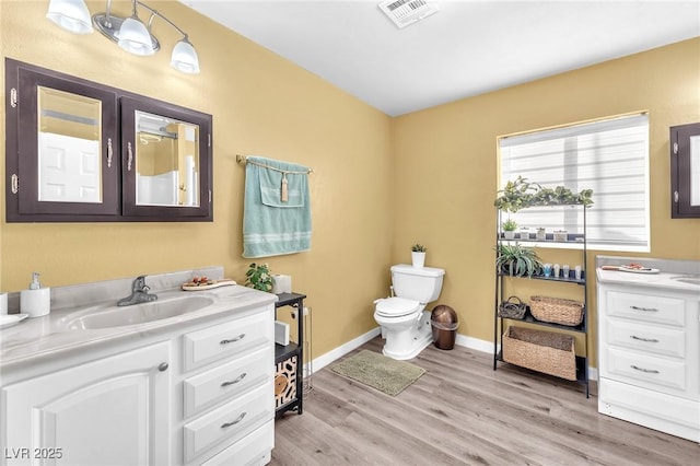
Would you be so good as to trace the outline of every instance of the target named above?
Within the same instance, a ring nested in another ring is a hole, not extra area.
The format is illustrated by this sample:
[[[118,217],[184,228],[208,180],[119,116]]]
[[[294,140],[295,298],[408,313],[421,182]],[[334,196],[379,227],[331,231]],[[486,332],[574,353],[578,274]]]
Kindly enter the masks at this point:
[[[670,128],[670,215],[700,218],[700,123]]]

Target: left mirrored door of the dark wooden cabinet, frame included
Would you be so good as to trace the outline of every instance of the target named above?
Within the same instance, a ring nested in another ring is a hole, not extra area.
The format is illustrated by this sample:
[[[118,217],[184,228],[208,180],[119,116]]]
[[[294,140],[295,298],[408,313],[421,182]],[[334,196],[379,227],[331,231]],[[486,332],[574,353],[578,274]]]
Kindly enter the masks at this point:
[[[8,221],[118,215],[117,94],[7,60]]]

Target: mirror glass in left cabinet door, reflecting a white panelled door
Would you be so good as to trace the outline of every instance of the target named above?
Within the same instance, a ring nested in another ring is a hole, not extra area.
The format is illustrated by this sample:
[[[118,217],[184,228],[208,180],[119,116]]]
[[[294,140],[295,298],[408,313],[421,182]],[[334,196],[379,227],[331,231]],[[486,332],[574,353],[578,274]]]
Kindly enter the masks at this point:
[[[38,200],[102,199],[102,102],[37,86]]]

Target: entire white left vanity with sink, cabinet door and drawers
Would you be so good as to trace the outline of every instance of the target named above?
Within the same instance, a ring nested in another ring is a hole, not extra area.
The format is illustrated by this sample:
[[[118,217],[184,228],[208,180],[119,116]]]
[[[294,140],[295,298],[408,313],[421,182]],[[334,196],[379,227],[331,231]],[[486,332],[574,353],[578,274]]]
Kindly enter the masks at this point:
[[[191,275],[147,278],[163,318],[86,307],[128,294],[115,280],[55,288],[48,316],[0,330],[0,464],[269,463],[277,296],[180,291]]]

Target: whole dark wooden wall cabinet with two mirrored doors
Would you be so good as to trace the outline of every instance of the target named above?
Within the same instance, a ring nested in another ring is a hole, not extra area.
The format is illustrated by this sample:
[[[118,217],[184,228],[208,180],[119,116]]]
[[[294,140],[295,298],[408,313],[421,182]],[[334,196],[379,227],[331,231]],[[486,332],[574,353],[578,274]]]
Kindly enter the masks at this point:
[[[8,222],[211,221],[211,116],[5,59]]]

